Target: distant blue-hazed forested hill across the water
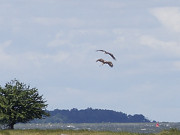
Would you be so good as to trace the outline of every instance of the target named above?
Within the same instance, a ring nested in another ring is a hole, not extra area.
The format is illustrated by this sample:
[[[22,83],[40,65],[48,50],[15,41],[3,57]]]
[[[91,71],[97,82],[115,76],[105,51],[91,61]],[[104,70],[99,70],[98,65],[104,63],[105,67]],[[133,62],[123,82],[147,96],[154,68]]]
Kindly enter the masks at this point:
[[[84,110],[71,109],[48,111],[50,117],[42,120],[34,120],[32,123],[140,123],[150,122],[142,114],[127,115],[112,110],[92,109]]]

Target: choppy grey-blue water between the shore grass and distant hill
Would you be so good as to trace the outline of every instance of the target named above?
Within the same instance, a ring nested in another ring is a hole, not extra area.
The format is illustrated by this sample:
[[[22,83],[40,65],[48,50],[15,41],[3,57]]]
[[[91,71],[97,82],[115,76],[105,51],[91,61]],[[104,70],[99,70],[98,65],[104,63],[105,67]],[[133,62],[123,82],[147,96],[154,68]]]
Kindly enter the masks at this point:
[[[48,123],[48,124],[16,124],[15,129],[72,129],[72,130],[96,130],[96,131],[127,131],[136,133],[157,133],[164,129],[180,129],[180,123]]]

